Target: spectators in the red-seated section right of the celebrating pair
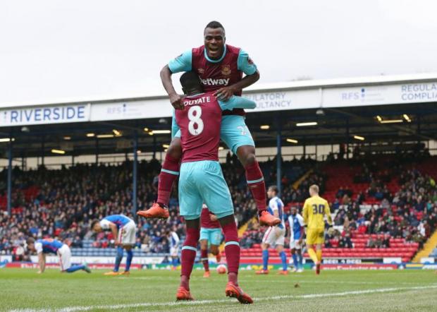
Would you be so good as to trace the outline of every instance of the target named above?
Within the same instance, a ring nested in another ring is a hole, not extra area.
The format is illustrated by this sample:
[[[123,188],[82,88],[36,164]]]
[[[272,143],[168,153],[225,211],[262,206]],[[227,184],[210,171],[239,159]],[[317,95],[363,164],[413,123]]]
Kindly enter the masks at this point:
[[[369,188],[365,193],[357,194],[347,186],[338,189],[336,199],[331,203],[331,211],[335,214],[334,225],[341,230],[331,235],[326,234],[326,247],[353,248],[353,233],[377,234],[376,238],[367,242],[369,248],[389,248],[390,238],[402,238],[422,246],[437,227],[437,188],[431,176],[414,169],[410,164],[427,160],[431,160],[428,155],[423,155],[419,160],[417,157],[412,158],[412,155],[404,155],[397,161],[390,157],[379,162],[374,159],[359,162],[351,160],[349,165],[362,166],[362,172],[355,176],[355,183],[367,183]],[[298,200],[284,200],[284,203],[297,202],[293,205],[301,211],[302,202],[308,196],[305,193],[307,186],[319,184],[323,196],[325,179],[326,176],[320,172],[314,172],[300,184],[302,197]],[[395,193],[390,193],[387,188],[392,179],[396,179],[399,184],[399,190]],[[378,208],[362,208],[367,197],[379,200]],[[257,227],[256,222],[249,224],[250,230]],[[248,231],[242,244],[245,247],[259,244],[262,236],[262,231]]]

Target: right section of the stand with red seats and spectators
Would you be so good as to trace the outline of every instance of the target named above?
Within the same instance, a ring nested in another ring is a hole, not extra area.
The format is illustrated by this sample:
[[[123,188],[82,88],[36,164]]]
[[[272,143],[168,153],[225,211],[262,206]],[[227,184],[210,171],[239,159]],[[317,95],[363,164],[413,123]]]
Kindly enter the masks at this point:
[[[437,157],[410,154],[319,164],[326,179],[322,196],[331,203],[338,229],[326,236],[324,257],[411,260],[437,226],[436,164]],[[302,191],[314,176],[302,182]],[[301,208],[302,202],[285,205]],[[262,235],[251,222],[242,239],[245,263],[261,257]],[[270,253],[279,263],[276,251]]]

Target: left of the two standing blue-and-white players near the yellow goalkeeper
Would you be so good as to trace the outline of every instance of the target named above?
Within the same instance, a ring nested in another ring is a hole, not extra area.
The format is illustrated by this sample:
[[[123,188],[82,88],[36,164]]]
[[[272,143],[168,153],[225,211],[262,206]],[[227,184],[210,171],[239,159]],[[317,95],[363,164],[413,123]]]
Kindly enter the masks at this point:
[[[278,251],[279,256],[281,257],[282,262],[282,270],[279,271],[281,275],[288,275],[287,270],[287,255],[285,255],[284,251],[284,240],[285,240],[285,222],[284,222],[284,214],[283,208],[284,204],[281,198],[278,198],[278,188],[276,186],[270,186],[269,191],[267,191],[267,195],[269,196],[269,212],[271,215],[278,217],[281,220],[281,223],[274,226],[269,227],[264,237],[262,238],[262,270],[257,271],[257,274],[269,274],[269,247],[275,245],[276,251]]]

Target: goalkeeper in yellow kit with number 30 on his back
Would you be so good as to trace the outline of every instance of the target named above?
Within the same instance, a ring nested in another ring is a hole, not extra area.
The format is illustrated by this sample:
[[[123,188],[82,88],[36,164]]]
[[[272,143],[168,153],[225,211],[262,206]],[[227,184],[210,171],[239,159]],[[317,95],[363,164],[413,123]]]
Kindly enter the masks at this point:
[[[321,266],[321,244],[325,242],[325,220],[332,227],[331,210],[328,202],[319,196],[319,186],[313,184],[309,186],[309,196],[304,203],[303,215],[304,224],[307,227],[307,248],[309,257],[316,265],[316,275],[320,274]],[[314,251],[314,245],[316,251]]]

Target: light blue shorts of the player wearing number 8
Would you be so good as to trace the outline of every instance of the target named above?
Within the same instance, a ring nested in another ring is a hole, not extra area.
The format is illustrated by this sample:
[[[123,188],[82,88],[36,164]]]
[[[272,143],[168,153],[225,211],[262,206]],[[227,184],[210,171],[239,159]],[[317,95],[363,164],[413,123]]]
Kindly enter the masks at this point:
[[[200,217],[205,203],[219,219],[233,215],[230,192],[219,162],[183,162],[179,171],[179,209],[186,220]]]

